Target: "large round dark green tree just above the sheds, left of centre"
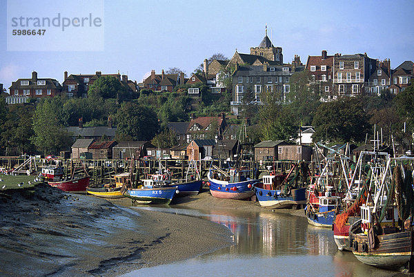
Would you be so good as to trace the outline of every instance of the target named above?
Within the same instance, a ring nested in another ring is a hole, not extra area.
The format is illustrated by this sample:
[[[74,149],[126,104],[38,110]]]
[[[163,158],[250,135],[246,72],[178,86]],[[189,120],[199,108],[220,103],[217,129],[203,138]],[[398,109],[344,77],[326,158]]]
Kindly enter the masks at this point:
[[[135,102],[124,102],[117,112],[117,133],[132,140],[151,140],[159,129],[157,114]]]

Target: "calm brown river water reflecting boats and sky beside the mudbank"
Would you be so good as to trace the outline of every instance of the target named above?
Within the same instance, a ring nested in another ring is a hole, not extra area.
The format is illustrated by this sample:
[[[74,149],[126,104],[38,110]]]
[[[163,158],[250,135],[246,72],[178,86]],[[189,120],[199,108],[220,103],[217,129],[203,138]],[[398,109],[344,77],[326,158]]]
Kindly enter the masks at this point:
[[[235,245],[170,265],[132,271],[130,276],[394,276],[401,272],[364,265],[339,251],[331,229],[308,225],[285,213],[198,211],[131,207],[204,218],[225,225]],[[200,238],[202,239],[202,238]],[[404,274],[405,275],[405,274]]]

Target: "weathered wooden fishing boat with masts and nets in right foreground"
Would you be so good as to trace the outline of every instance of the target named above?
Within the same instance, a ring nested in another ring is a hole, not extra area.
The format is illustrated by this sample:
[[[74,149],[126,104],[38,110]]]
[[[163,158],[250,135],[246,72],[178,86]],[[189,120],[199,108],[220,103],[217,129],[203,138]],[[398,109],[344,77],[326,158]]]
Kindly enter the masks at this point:
[[[371,188],[374,198],[362,205],[361,220],[349,230],[349,244],[359,261],[387,269],[411,263],[413,163],[414,157],[390,158],[379,186]]]

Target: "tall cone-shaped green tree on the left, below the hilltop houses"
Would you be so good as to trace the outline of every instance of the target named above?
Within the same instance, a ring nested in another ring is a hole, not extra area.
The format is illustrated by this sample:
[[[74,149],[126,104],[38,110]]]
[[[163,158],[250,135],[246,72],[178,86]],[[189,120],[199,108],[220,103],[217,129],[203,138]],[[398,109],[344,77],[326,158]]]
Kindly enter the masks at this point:
[[[59,153],[71,144],[70,135],[59,122],[53,99],[42,99],[33,116],[32,142],[43,153]]]

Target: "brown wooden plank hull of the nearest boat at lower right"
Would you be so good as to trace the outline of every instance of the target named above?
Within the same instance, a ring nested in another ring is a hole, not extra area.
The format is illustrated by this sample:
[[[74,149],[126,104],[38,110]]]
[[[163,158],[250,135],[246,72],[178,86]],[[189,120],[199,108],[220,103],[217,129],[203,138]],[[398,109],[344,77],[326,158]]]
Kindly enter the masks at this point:
[[[400,269],[408,263],[411,258],[411,236],[411,231],[375,236],[375,247],[371,249],[368,235],[349,232],[355,257],[366,265],[386,269]]]

